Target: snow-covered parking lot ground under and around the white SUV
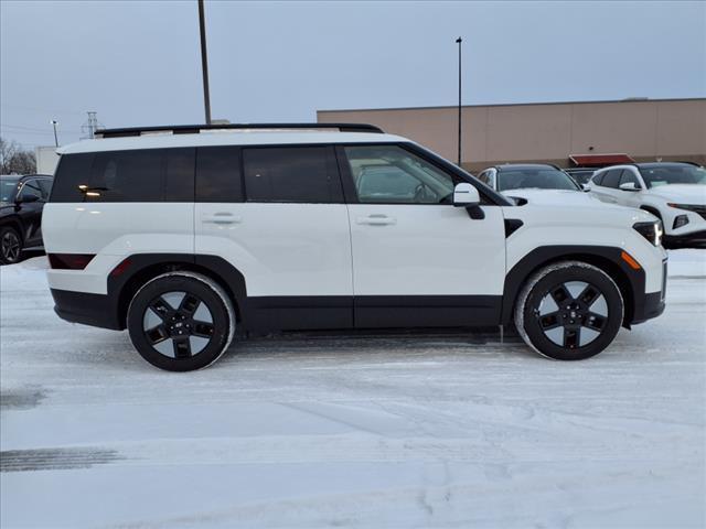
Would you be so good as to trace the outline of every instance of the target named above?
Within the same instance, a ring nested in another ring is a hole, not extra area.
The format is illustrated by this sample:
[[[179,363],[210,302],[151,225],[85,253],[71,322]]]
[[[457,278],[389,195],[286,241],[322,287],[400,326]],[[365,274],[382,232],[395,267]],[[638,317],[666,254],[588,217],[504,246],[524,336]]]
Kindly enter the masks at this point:
[[[0,271],[0,526],[704,527],[706,251],[601,355],[514,336],[260,338],[159,371]]]

